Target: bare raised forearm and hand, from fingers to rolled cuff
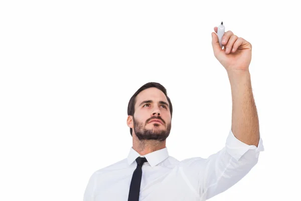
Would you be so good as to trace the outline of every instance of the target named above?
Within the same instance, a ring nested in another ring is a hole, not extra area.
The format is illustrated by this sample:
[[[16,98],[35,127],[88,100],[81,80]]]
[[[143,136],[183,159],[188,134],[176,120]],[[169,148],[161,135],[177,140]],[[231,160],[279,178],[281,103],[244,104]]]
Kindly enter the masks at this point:
[[[214,31],[217,32],[217,27]],[[227,31],[223,36],[222,44],[225,48],[222,50],[216,34],[211,35],[214,55],[225,67],[231,84],[232,132],[245,144],[257,146],[259,121],[249,73],[252,45]]]

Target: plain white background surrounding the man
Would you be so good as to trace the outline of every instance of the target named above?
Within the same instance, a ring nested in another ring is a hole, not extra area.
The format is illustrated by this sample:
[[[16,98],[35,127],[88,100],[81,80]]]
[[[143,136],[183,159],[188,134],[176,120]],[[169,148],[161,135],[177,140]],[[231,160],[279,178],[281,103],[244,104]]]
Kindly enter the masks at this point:
[[[221,21],[252,44],[265,151],[211,200],[297,200],[301,16],[293,2],[2,1],[0,200],[82,200],[94,171],[127,157],[127,104],[149,81],[163,84],[174,106],[171,156],[222,149],[232,102],[211,46]]]

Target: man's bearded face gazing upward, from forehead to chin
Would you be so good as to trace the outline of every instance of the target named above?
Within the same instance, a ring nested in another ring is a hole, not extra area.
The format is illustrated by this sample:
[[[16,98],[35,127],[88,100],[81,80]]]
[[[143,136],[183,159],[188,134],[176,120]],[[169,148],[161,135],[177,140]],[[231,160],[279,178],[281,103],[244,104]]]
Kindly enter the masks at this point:
[[[147,88],[136,96],[133,125],[133,132],[139,140],[166,140],[172,126],[171,112],[160,89]]]

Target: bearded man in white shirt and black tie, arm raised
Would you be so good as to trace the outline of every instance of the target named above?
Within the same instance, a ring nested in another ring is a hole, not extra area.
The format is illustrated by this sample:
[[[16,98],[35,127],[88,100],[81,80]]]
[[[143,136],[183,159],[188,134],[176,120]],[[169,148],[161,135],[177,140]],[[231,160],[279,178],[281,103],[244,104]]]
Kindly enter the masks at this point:
[[[207,159],[178,161],[169,156],[166,139],[172,103],[164,86],[146,83],[128,104],[127,125],[133,142],[128,157],[95,171],[84,201],[206,200],[233,186],[257,163],[264,149],[248,70],[252,46],[227,31],[222,50],[217,35],[211,35],[214,55],[231,84],[232,126],[226,146]]]

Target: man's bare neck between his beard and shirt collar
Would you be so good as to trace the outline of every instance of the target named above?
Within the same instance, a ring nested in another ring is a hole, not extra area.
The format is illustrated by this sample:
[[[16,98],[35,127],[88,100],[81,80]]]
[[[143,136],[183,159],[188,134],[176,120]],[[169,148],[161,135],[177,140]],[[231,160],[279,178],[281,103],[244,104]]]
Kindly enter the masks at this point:
[[[139,140],[133,133],[133,146],[132,148],[138,152],[141,156],[158,151],[166,147],[166,140]]]

